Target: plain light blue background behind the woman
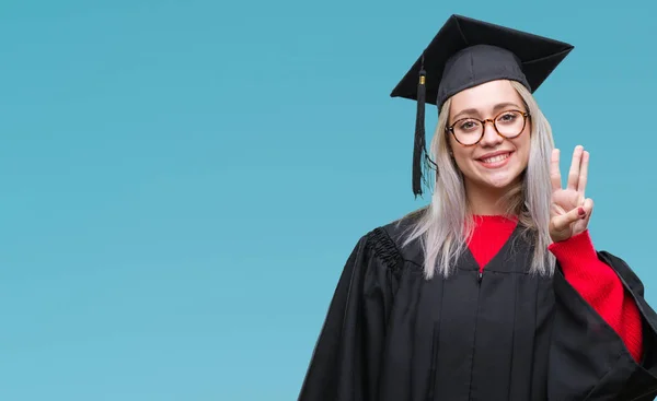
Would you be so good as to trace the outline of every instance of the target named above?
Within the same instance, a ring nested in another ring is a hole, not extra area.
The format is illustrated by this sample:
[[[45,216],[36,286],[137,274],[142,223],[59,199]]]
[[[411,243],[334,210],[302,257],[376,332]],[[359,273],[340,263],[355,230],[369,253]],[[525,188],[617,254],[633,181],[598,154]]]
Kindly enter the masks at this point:
[[[657,303],[655,5],[458,3],[4,0],[0,400],[296,399],[349,250],[424,204],[389,94],[451,13],[576,45],[537,97]]]

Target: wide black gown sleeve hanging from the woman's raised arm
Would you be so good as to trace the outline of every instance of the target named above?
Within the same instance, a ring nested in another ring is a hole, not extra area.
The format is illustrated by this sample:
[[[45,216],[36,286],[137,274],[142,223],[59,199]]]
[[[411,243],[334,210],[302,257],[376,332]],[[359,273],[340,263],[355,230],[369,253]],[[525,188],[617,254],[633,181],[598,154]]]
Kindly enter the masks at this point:
[[[657,397],[657,314],[644,286],[621,258],[596,251],[634,300],[643,326],[643,354],[636,361],[621,337],[566,280],[557,260],[555,310],[549,367],[549,400],[647,401]]]

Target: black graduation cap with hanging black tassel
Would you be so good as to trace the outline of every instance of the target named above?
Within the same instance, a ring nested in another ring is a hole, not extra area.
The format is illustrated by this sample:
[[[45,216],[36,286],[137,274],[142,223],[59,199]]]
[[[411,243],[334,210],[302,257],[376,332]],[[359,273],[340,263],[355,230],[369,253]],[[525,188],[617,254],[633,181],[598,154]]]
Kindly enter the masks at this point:
[[[500,79],[518,81],[533,93],[573,48],[551,38],[451,15],[390,94],[417,101],[413,193],[422,194],[423,158],[430,162],[425,144],[426,103],[440,109],[450,96]]]

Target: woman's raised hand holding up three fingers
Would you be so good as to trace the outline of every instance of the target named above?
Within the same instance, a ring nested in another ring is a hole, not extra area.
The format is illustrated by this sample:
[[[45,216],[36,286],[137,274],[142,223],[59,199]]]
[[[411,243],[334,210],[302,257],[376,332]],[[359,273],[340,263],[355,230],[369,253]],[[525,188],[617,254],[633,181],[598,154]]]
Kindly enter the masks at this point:
[[[562,188],[558,157],[558,149],[553,150],[550,163],[550,236],[555,243],[586,231],[593,211],[593,201],[585,196],[589,153],[581,145],[575,146],[566,188]]]

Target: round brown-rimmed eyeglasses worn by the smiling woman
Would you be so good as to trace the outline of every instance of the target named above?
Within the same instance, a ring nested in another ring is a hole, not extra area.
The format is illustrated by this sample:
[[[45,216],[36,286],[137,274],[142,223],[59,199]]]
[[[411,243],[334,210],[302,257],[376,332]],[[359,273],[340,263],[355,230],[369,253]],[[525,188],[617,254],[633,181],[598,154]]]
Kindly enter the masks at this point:
[[[463,146],[473,146],[484,138],[484,128],[486,122],[493,122],[495,131],[506,139],[514,139],[525,130],[529,113],[520,110],[506,110],[498,114],[495,118],[480,120],[479,118],[461,118],[446,130],[454,135],[457,142]]]

